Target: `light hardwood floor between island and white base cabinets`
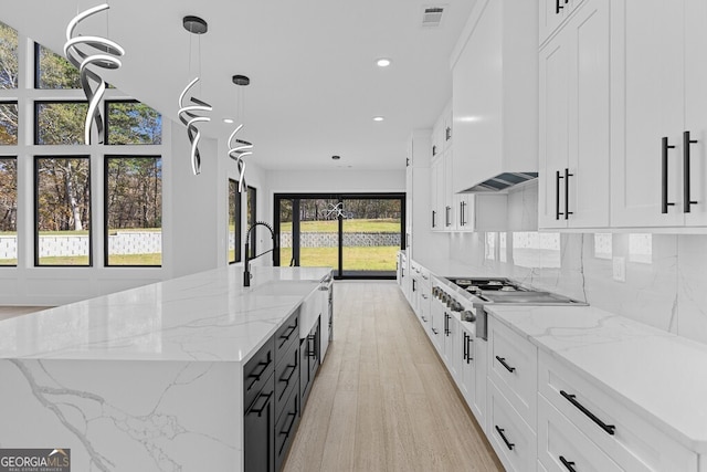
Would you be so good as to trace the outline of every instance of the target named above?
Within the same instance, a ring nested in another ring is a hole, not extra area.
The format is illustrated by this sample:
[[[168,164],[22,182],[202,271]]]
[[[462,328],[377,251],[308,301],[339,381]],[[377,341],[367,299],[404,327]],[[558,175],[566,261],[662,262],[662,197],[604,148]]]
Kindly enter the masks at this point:
[[[336,282],[327,352],[284,470],[503,471],[394,282]]]

